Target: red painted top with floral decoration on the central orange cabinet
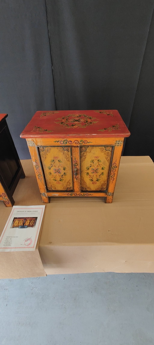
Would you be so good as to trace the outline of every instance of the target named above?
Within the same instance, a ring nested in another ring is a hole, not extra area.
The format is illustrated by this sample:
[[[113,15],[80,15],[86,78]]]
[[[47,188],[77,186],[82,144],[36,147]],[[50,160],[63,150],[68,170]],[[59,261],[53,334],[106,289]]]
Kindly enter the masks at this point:
[[[129,137],[118,110],[36,111],[21,138]]]

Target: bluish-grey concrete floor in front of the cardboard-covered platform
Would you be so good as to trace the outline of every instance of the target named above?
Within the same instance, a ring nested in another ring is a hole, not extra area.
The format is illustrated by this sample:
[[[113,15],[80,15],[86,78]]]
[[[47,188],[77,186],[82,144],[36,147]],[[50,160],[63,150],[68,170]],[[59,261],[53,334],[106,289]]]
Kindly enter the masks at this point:
[[[2,279],[0,344],[154,344],[154,274]]]

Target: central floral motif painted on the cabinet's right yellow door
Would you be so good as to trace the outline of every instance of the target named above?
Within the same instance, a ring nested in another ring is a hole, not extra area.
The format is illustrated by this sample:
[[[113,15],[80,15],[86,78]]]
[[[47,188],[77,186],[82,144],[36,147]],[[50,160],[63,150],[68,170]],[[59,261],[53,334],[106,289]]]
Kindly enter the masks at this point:
[[[99,156],[94,156],[94,158],[90,160],[89,166],[86,167],[86,175],[93,185],[96,185],[97,182],[100,181],[101,176],[104,175],[104,169],[105,167],[102,166]]]

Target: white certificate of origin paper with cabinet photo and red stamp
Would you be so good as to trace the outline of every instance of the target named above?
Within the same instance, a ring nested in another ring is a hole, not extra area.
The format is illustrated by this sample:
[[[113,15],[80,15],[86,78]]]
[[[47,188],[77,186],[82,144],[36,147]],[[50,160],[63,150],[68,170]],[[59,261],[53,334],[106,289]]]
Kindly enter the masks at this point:
[[[0,252],[35,250],[45,205],[13,206],[0,237]]]

